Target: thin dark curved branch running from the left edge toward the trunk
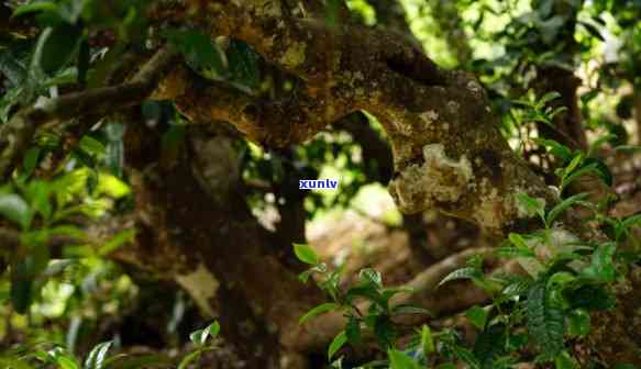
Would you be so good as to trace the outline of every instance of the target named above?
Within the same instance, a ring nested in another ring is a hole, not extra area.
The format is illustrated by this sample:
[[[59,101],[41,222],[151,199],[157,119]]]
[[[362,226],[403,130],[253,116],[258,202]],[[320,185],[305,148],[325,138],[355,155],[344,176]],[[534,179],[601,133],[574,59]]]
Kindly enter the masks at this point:
[[[129,82],[65,94],[15,113],[0,130],[0,176],[9,176],[38,126],[88,114],[106,114],[141,102],[155,89],[176,55],[174,49],[163,47]]]

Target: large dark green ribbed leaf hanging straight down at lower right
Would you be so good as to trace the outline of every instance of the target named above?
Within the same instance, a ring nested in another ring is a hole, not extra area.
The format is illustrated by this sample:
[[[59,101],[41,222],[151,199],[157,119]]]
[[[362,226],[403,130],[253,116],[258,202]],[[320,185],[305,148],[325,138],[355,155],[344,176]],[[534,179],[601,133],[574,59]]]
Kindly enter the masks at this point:
[[[527,327],[532,338],[549,357],[555,357],[564,348],[565,331],[563,310],[553,304],[545,281],[534,283],[526,302]]]

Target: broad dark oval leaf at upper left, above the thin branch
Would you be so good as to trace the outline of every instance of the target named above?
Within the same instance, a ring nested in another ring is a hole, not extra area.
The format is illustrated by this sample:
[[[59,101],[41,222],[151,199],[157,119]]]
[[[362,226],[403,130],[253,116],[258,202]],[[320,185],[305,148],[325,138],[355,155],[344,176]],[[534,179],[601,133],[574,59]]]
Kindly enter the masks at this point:
[[[81,35],[81,27],[67,23],[46,27],[37,41],[34,53],[36,64],[47,75],[58,71],[71,59]]]

